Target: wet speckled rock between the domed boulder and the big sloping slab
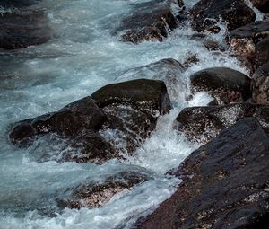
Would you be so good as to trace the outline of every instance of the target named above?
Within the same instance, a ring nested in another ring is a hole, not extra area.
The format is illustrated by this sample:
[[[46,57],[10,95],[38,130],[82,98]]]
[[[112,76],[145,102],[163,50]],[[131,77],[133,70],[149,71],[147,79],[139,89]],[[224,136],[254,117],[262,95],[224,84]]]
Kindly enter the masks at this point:
[[[222,129],[245,117],[255,117],[269,133],[269,106],[250,103],[186,108],[178,114],[178,130],[189,140],[206,144]]]

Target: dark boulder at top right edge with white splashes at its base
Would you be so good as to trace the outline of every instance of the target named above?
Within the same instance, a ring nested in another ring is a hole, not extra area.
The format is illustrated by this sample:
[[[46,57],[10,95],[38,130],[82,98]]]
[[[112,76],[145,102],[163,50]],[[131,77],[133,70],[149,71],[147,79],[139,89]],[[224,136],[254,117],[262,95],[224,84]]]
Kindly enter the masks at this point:
[[[219,32],[217,22],[220,18],[227,22],[229,31],[254,22],[256,14],[241,0],[200,0],[192,8],[192,28],[195,31]]]

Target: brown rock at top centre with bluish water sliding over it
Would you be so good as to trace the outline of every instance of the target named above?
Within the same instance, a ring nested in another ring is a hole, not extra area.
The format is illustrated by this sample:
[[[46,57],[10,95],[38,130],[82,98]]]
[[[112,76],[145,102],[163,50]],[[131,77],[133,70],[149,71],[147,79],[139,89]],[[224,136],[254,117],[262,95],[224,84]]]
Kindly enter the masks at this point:
[[[178,26],[169,0],[133,4],[130,14],[123,19],[116,33],[122,35],[122,40],[135,44],[145,40],[162,41]]]

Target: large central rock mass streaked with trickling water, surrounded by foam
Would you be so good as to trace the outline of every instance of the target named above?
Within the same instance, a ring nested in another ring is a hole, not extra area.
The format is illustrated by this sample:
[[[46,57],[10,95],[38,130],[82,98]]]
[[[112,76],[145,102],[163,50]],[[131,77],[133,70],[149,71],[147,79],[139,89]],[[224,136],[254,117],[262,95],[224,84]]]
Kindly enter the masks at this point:
[[[158,117],[170,108],[162,81],[110,84],[61,110],[16,123],[9,138],[14,145],[27,147],[40,137],[54,134],[68,143],[66,147],[76,149],[62,150],[65,153],[57,161],[104,162],[122,151],[132,153],[150,136]],[[46,152],[42,154],[40,160],[49,157]]]

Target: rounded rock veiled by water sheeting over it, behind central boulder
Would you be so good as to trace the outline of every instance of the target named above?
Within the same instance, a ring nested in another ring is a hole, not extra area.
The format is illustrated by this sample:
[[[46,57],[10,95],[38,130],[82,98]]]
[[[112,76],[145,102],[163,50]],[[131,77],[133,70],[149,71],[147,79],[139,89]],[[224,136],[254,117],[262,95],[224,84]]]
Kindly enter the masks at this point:
[[[126,79],[153,79],[163,81],[169,92],[169,98],[172,101],[184,100],[182,92],[186,90],[187,84],[183,77],[185,68],[177,60],[172,58],[161,59],[150,65],[139,66],[127,70],[117,78],[117,81]]]

